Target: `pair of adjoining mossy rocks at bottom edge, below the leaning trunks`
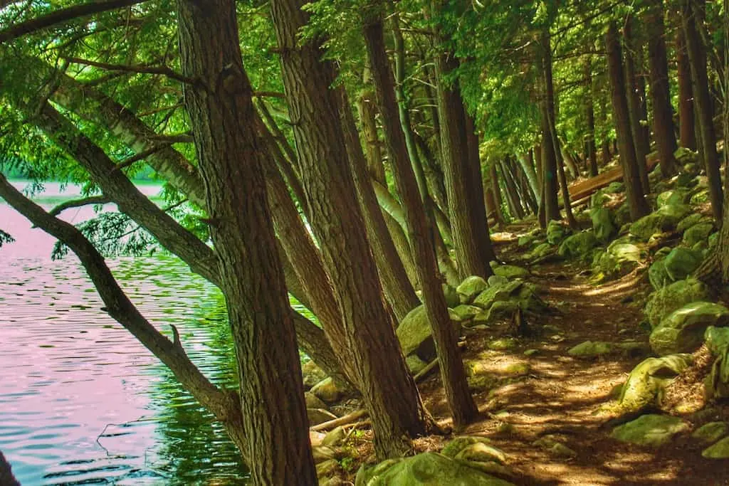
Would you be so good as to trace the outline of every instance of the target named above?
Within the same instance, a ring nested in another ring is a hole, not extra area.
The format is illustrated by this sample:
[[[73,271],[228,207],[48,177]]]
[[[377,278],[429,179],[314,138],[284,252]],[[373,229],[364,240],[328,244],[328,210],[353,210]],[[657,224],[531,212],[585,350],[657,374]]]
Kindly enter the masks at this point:
[[[453,439],[439,452],[362,466],[356,486],[473,485],[512,486],[507,455],[485,437]],[[506,479],[504,479],[506,478]]]

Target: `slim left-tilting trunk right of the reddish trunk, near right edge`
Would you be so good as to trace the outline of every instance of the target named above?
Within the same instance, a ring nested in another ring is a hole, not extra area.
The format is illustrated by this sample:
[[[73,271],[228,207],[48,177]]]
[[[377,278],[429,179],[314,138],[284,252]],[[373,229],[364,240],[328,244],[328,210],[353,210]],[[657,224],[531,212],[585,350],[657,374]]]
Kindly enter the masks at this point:
[[[701,144],[703,149],[703,164],[706,176],[709,178],[709,196],[712,200],[712,213],[717,222],[722,221],[722,179],[719,167],[719,154],[717,154],[717,137],[714,131],[714,109],[712,97],[709,93],[709,79],[706,73],[706,49],[698,36],[696,23],[703,18],[703,1],[681,1],[681,14],[683,28],[686,34],[686,48],[691,66],[691,80],[693,82],[693,95],[695,114],[701,129]]]

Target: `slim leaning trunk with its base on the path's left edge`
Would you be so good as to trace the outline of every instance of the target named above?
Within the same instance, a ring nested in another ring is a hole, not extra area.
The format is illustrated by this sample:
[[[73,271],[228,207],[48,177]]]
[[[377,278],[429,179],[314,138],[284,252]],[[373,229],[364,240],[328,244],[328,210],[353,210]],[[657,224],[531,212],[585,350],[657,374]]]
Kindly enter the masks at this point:
[[[478,409],[471,396],[466,380],[461,353],[457,346],[458,336],[448,316],[448,307],[441,286],[435,258],[433,238],[429,227],[422,194],[405,147],[405,133],[391,114],[396,110],[394,79],[387,66],[383,27],[380,17],[364,26],[364,41],[373,71],[380,112],[383,114],[385,140],[392,155],[397,190],[402,198],[408,222],[408,236],[416,258],[418,279],[423,290],[426,315],[430,321],[433,340],[440,361],[440,375],[445,388],[445,398],[453,415],[453,425],[461,428],[472,422]],[[424,181],[423,181],[424,182]],[[422,189],[422,188],[421,188]],[[484,217],[486,217],[484,215]]]

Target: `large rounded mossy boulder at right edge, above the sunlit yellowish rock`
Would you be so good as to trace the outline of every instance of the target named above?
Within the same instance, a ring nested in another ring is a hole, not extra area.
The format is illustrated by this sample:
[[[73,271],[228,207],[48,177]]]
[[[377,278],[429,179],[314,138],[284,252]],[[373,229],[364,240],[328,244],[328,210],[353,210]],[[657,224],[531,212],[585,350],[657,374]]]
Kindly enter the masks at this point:
[[[703,342],[709,326],[729,324],[729,310],[713,302],[691,302],[674,310],[650,333],[650,347],[658,356],[691,353]]]

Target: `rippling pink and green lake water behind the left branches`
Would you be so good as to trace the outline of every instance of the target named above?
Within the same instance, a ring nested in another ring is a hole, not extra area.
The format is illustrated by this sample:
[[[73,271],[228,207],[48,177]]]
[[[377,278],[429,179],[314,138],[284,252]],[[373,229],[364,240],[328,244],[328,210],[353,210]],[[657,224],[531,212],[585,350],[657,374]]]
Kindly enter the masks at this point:
[[[74,194],[48,184],[39,203]],[[62,215],[91,216],[92,208]],[[225,431],[101,311],[76,256],[52,261],[55,240],[2,200],[0,229],[16,239],[0,248],[0,450],[21,484],[245,484]],[[218,385],[234,385],[217,289],[171,256],[108,263],[149,321],[168,336],[175,324],[192,361]]]

